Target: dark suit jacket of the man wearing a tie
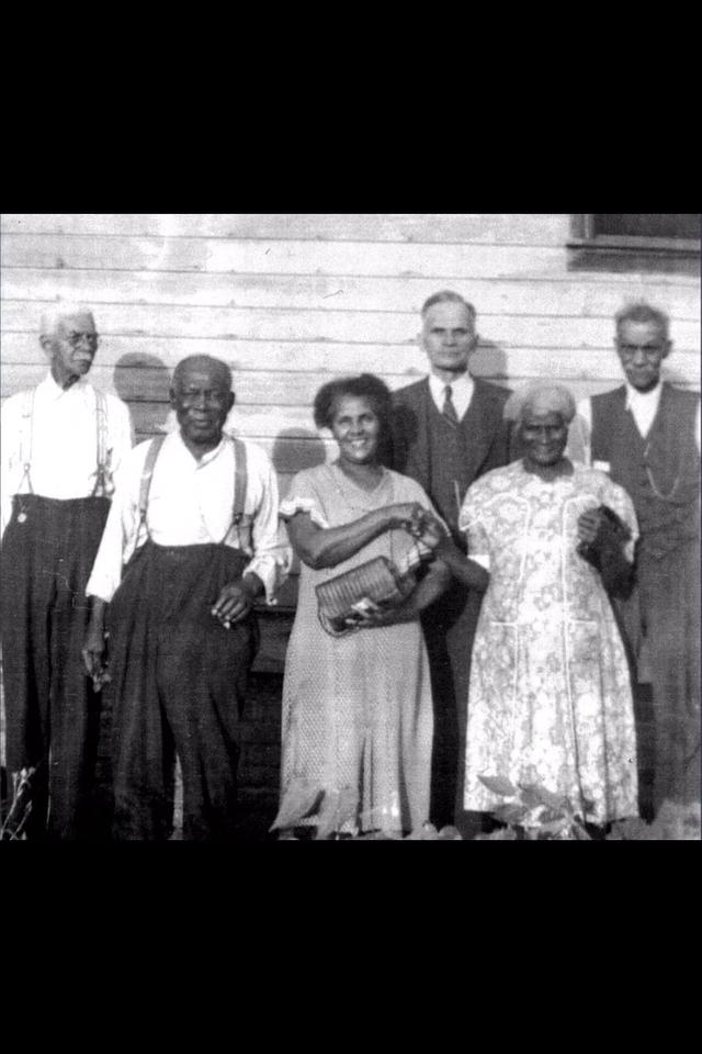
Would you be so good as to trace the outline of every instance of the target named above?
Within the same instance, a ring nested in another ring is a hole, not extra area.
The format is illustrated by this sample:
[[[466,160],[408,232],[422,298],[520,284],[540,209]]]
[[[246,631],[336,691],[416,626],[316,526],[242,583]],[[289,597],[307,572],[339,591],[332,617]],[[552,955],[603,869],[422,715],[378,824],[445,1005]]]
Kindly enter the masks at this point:
[[[509,423],[502,419],[510,392],[506,388],[475,380],[471,404],[462,427],[472,437],[467,466],[463,466],[469,483],[491,469],[511,460]],[[429,462],[429,412],[433,406],[429,379],[400,388],[393,395],[392,468],[417,480],[431,496]]]

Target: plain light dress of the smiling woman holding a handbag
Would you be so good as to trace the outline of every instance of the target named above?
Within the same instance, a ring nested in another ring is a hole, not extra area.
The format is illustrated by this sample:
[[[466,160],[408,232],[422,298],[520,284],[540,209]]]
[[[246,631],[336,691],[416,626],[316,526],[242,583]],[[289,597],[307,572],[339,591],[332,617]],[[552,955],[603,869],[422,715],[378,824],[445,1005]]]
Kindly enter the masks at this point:
[[[397,472],[384,470],[369,493],[324,464],[295,476],[281,516],[304,511],[319,527],[337,527],[396,502],[432,508],[419,484]],[[318,583],[373,557],[398,561],[412,545],[406,531],[390,530],[336,568],[302,564],[283,682],[281,809],[303,781],[358,792],[356,818],[341,830],[407,831],[429,818],[433,718],[419,619],[331,637],[315,594]]]

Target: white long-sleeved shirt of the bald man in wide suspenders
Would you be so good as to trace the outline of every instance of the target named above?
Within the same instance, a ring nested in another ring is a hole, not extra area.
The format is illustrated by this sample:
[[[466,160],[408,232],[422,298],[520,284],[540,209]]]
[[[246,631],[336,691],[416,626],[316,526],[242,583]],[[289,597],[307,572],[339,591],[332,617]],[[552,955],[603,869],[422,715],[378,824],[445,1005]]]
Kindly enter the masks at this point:
[[[180,430],[163,440],[149,489],[146,526],[139,525],[139,491],[150,440],[132,450],[121,473],[105,530],[86,588],[107,603],[122,578],[122,567],[150,535],[159,546],[194,546],[225,541],[240,548],[265,586],[269,604],[284,581],[291,550],[278,519],[278,480],[268,456],[246,440],[247,489],[245,515],[252,517],[251,545],[242,546],[231,527],[235,481],[234,442],[224,436],[219,445],[197,461]],[[147,532],[148,528],[148,532]]]

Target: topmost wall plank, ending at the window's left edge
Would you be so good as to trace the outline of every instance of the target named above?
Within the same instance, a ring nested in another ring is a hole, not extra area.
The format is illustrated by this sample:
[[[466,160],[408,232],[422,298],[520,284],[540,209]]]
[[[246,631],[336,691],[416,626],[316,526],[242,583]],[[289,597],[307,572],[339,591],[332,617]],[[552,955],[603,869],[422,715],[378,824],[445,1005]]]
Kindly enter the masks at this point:
[[[214,237],[327,242],[563,245],[570,217],[557,213],[15,213],[5,234]]]

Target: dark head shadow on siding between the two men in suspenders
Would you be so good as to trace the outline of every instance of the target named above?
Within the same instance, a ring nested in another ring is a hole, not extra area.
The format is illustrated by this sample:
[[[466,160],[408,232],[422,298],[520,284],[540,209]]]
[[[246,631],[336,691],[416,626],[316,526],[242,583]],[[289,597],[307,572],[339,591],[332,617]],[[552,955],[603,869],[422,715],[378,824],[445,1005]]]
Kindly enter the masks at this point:
[[[123,355],[115,363],[112,382],[129,406],[137,442],[168,430],[171,374],[157,356]]]

